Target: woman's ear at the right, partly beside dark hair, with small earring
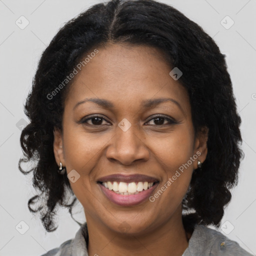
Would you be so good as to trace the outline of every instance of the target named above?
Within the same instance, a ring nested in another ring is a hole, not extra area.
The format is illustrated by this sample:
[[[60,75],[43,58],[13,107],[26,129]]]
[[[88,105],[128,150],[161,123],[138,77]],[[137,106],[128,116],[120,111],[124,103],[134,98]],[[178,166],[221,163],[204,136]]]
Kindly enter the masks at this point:
[[[207,155],[208,127],[204,126],[198,131],[194,141],[194,154],[198,155],[197,160],[204,162]],[[197,152],[197,153],[196,153]],[[193,161],[193,169],[197,169],[197,160]]]

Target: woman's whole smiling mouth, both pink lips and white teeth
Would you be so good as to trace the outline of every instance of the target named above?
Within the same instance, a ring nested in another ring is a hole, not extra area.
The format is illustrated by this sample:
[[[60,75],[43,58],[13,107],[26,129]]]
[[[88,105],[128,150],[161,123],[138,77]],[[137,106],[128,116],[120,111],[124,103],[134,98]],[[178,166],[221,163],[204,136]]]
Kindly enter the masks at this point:
[[[97,183],[111,202],[120,206],[132,206],[148,198],[159,180],[140,174],[114,174],[99,178]]]

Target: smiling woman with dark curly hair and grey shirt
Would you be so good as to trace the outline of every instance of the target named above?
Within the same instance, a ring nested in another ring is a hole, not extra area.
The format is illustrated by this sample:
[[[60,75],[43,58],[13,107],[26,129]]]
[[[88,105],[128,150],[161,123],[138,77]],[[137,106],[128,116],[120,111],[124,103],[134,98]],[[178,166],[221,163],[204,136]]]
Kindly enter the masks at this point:
[[[67,22],[25,112],[19,169],[40,192],[29,209],[47,231],[58,205],[71,213],[78,199],[86,217],[44,255],[250,255],[207,227],[219,226],[243,154],[224,55],[173,7],[110,0]]]

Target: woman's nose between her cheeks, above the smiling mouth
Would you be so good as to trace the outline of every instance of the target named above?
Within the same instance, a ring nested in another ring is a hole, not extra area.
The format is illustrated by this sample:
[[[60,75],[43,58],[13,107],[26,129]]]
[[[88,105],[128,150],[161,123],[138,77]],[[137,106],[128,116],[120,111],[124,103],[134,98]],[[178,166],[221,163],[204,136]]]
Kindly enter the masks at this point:
[[[131,125],[126,131],[119,126],[115,128],[115,134],[110,140],[111,144],[106,150],[109,160],[118,161],[122,165],[130,165],[134,161],[146,161],[149,159],[149,150],[145,145],[142,131]]]

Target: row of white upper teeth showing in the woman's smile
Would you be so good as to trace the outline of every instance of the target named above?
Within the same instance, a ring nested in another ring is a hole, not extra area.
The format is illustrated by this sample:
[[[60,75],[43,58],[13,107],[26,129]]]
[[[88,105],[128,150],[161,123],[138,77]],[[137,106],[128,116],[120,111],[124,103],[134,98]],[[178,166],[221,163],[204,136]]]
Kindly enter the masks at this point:
[[[102,184],[108,188],[109,190],[113,190],[118,194],[137,194],[143,189],[146,190],[150,187],[152,187],[153,182],[117,182],[117,181],[107,181],[107,182],[102,182]]]

